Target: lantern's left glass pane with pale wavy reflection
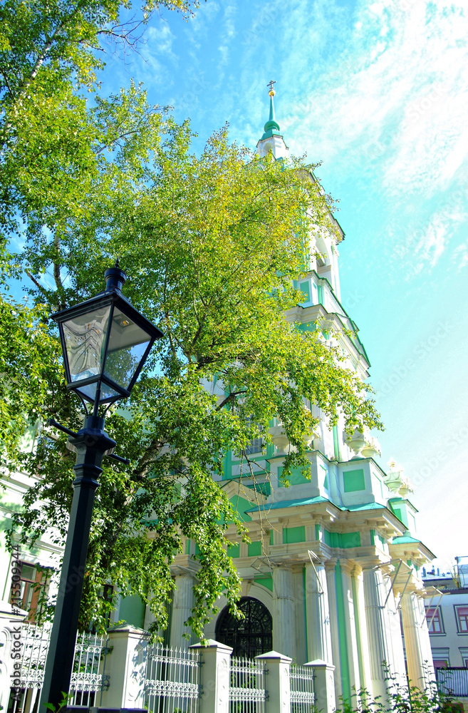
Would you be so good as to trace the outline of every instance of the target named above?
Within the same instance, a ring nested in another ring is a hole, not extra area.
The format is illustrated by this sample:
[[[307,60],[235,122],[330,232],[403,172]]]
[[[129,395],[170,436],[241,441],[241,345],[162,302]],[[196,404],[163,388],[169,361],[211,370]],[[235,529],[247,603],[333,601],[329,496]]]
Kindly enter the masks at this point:
[[[63,322],[71,381],[98,376],[103,369],[110,305]],[[95,386],[92,389],[95,391]]]

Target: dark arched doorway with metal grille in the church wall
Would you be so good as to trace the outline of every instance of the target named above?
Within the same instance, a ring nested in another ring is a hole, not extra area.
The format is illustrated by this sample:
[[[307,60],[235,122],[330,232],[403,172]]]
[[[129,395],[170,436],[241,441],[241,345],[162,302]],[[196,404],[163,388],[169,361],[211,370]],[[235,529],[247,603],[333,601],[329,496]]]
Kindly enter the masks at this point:
[[[273,620],[269,610],[254,597],[242,597],[239,609],[243,619],[236,619],[228,607],[224,607],[216,625],[216,639],[232,646],[233,656],[253,659],[273,647]]]

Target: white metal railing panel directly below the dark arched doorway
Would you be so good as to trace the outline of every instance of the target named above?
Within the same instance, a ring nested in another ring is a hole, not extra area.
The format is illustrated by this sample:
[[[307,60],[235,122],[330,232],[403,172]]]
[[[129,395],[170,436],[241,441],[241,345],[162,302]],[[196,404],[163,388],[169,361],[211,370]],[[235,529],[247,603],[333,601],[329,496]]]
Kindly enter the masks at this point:
[[[263,662],[232,656],[229,713],[265,713],[265,678]]]

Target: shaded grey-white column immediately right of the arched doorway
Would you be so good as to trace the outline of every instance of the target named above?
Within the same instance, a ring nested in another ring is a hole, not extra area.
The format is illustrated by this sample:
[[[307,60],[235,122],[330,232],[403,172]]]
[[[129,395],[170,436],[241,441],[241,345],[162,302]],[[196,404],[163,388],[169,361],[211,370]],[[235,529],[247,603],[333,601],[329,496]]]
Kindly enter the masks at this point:
[[[289,567],[273,570],[274,624],[273,648],[284,656],[296,656],[294,650],[293,573]]]

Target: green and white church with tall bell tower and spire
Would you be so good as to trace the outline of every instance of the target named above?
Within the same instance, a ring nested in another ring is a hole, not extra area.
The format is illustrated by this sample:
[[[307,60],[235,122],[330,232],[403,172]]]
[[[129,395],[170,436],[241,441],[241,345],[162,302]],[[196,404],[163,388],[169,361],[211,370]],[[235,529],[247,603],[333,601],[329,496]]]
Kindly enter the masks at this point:
[[[271,84],[269,120],[257,151],[279,160],[288,148],[274,94]],[[331,220],[333,232],[321,228],[311,236],[316,257],[298,282],[303,302],[288,319],[304,330],[318,325],[323,339],[338,344],[347,365],[365,379],[368,356],[340,295],[344,233]],[[274,650],[298,664],[321,662],[336,702],[350,699],[353,689],[365,687],[375,697],[385,695],[392,679],[406,683],[405,659],[410,681],[424,688],[433,670],[420,570],[435,555],[417,537],[410,483],[394,461],[383,470],[375,438],[358,431],[346,438],[344,422],[331,428],[316,406],[311,409],[321,420],[308,442],[310,478],[298,469],[289,487],[281,482],[289,443],[279,422],[270,429],[272,445],[257,438],[244,458],[225,458],[219,484],[251,540],[236,543],[234,526],[228,530],[245,619],[234,618],[222,599],[205,633],[233,647],[234,655]],[[194,543],[188,540],[184,551],[173,566],[177,589],[168,640],[175,646],[186,631],[197,576]]]

